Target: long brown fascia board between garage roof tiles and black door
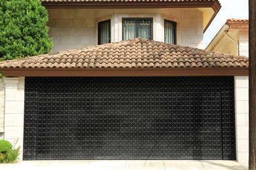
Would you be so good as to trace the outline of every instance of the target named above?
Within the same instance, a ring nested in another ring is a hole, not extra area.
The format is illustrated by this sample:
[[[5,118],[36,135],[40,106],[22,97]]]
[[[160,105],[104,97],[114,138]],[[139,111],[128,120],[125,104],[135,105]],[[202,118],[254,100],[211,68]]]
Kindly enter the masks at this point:
[[[248,67],[200,68],[1,68],[5,76],[248,76]]]

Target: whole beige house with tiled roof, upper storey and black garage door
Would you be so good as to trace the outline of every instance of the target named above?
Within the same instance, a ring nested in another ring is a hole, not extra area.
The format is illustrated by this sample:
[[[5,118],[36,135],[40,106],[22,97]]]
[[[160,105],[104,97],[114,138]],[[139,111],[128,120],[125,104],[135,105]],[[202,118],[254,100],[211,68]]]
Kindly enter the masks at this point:
[[[42,3],[53,54],[0,63],[21,160],[247,164],[248,59],[198,49],[218,1]]]

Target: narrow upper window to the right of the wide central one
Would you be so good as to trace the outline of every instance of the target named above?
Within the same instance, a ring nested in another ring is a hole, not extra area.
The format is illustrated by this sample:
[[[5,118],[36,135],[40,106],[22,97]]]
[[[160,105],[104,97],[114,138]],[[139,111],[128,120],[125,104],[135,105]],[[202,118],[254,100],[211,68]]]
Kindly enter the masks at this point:
[[[176,44],[176,22],[165,20],[165,43]]]

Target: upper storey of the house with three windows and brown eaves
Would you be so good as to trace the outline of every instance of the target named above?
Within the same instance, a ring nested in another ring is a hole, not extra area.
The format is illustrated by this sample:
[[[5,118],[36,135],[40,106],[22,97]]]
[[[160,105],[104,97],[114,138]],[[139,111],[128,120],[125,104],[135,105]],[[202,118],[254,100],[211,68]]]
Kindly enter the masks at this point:
[[[76,3],[43,1],[53,52],[136,37],[203,48],[203,31],[221,7],[218,1]]]

